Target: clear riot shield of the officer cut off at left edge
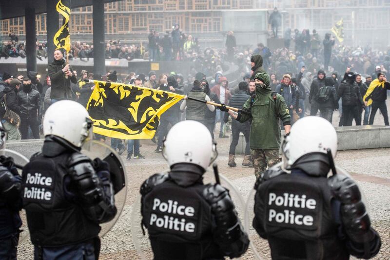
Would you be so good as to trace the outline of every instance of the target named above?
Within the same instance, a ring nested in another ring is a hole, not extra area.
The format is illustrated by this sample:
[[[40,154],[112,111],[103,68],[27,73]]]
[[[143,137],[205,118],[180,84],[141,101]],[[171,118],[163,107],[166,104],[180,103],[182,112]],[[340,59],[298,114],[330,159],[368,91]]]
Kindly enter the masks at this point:
[[[5,156],[5,157],[12,157],[15,162],[15,166],[18,169],[18,172],[21,176],[21,171],[24,165],[26,165],[29,160],[22,154],[15,152],[13,150],[9,149],[1,149],[0,150],[0,156]],[[23,210],[20,211],[20,219],[22,221],[22,225],[20,227],[20,236],[19,236],[19,244],[23,242],[28,237],[28,227],[27,227],[27,218],[26,218],[26,212]]]

